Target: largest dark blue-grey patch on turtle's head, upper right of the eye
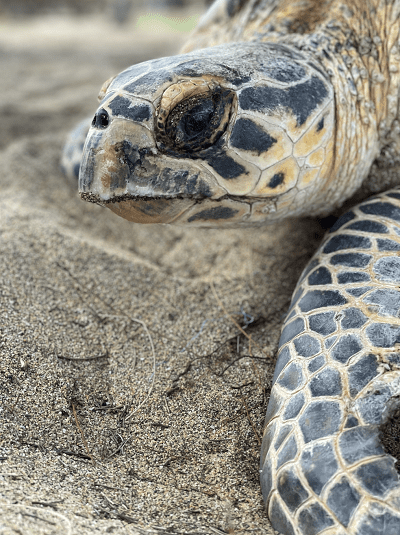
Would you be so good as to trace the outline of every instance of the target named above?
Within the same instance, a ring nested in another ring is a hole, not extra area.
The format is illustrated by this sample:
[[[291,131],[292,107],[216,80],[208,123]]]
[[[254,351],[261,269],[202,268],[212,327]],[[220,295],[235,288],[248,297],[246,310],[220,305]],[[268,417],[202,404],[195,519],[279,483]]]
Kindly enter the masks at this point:
[[[311,113],[328,96],[324,82],[313,76],[302,84],[278,89],[276,87],[247,87],[239,95],[243,110],[273,113],[277,108],[289,108],[297,119],[297,126],[306,122]]]

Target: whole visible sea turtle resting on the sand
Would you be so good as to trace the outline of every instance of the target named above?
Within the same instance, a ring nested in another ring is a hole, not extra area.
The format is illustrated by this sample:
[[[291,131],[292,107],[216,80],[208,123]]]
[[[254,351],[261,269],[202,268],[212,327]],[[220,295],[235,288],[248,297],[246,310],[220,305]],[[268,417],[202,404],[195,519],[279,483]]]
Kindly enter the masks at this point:
[[[400,534],[380,440],[400,396],[400,189],[368,198],[400,184],[399,29],[400,0],[217,0],[181,55],[104,84],[83,150],[82,199],[140,223],[256,227],[363,200],[282,330],[260,472],[285,535]]]

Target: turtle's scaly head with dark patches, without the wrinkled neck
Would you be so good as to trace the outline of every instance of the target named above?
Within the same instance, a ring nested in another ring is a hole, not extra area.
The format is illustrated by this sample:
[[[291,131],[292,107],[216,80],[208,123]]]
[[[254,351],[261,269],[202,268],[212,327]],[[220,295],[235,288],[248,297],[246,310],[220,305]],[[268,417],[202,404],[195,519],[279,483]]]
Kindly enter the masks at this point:
[[[149,61],[103,86],[80,194],[141,223],[310,213],[333,125],[329,81],[286,47],[234,43]]]

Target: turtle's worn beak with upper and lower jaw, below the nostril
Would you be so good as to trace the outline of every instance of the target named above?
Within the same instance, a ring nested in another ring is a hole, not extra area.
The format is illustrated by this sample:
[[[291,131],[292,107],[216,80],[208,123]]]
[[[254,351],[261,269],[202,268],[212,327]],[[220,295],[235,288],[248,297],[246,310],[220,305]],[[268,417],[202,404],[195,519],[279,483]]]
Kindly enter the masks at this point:
[[[79,194],[128,221],[173,223],[226,191],[195,161],[159,153],[148,128],[115,118],[107,129],[89,130]]]

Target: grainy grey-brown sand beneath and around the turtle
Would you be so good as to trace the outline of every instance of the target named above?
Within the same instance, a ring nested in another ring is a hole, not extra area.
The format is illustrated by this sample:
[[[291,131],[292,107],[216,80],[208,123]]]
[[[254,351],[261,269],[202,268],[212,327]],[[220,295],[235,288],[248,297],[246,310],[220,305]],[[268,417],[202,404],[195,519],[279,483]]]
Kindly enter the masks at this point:
[[[103,81],[183,39],[0,21],[1,535],[274,533],[263,418],[320,227],[138,226],[59,169]]]

